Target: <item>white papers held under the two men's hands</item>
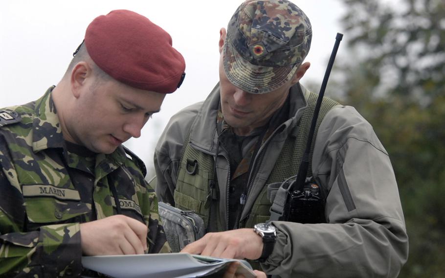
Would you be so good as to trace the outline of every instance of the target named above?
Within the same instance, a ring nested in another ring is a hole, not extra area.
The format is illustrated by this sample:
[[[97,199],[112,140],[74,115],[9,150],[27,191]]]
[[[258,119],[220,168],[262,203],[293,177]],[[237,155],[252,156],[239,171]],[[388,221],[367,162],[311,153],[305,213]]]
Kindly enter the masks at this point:
[[[191,278],[216,273],[230,262],[240,261],[237,274],[254,278],[251,266],[244,260],[221,259],[186,253],[84,256],[82,265],[115,278]]]

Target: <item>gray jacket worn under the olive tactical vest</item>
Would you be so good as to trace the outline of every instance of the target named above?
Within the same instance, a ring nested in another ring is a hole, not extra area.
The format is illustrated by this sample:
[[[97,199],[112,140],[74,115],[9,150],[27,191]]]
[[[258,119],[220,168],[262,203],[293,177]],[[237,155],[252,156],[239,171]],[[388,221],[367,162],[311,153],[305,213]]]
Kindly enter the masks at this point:
[[[265,186],[285,139],[298,132],[294,127],[306,107],[307,92],[300,84],[291,88],[289,115],[293,116],[263,146],[267,159],[260,165],[242,219]],[[170,119],[155,152],[160,200],[173,203],[181,150],[190,127],[192,146],[216,152],[219,100],[217,85],[205,101]],[[225,196],[229,165],[221,155],[217,165],[219,189]],[[312,173],[327,196],[327,223],[274,221],[277,241],[263,270],[282,277],[397,277],[408,256],[408,236],[394,171],[372,126],[353,107],[338,105],[323,119]],[[218,220],[226,226],[224,198]]]

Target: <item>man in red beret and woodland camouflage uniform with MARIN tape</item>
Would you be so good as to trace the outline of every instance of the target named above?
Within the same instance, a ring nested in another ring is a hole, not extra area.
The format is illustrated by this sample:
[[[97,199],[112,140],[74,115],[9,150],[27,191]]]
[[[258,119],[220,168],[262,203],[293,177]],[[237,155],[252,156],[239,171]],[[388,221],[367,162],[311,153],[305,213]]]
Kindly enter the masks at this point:
[[[167,32],[116,10],[89,24],[57,86],[0,110],[1,277],[79,277],[82,255],[170,251],[145,167],[122,143],[184,69]]]

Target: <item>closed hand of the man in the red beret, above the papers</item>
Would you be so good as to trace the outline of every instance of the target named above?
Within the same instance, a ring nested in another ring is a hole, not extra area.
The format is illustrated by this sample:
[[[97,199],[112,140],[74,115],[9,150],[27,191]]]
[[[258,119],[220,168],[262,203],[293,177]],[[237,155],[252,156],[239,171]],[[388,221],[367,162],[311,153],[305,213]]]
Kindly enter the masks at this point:
[[[134,255],[147,250],[147,226],[124,215],[80,224],[84,255]]]

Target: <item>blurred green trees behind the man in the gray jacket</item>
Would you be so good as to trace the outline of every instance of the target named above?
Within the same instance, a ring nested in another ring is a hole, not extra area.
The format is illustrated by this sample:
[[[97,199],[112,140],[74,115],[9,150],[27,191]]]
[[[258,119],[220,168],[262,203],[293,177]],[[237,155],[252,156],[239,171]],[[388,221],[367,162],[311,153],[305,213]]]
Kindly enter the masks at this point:
[[[343,2],[334,84],[390,154],[410,243],[400,277],[445,277],[445,1]]]

